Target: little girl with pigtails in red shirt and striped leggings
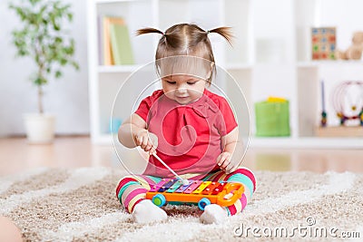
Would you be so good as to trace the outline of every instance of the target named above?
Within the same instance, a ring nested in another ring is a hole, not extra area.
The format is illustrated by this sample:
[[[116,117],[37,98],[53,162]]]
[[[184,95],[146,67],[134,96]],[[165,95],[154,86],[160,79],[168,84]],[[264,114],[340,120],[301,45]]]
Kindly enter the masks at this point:
[[[202,223],[221,223],[246,207],[256,187],[253,173],[239,168],[243,148],[229,103],[206,89],[215,73],[208,35],[221,34],[230,42],[230,29],[205,31],[195,24],[175,24],[165,33],[153,28],[138,31],[138,34],[149,33],[162,34],[155,56],[162,90],[142,100],[139,108],[123,122],[118,137],[124,146],[140,146],[151,156],[142,175],[120,180],[116,196],[135,222],[167,218],[162,208],[145,198],[152,185],[172,177],[152,156],[156,152],[184,179],[244,185],[244,194],[230,207],[211,204],[204,208]],[[198,73],[192,74],[191,70]]]

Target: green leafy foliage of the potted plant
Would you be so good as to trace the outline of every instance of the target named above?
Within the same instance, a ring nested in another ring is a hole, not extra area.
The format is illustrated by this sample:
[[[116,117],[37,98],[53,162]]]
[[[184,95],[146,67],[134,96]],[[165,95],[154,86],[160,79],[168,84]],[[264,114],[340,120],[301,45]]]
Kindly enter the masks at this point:
[[[38,67],[32,78],[35,85],[46,84],[53,75],[61,78],[65,65],[79,69],[74,60],[74,39],[64,29],[64,24],[74,19],[71,5],[60,0],[14,0],[8,7],[21,21],[12,31],[16,54],[31,57]]]

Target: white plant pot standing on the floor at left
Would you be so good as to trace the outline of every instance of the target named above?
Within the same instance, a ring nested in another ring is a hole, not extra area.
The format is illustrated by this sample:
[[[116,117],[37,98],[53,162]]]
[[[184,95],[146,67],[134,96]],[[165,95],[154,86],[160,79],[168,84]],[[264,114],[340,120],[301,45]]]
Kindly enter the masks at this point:
[[[29,143],[52,143],[55,117],[50,114],[28,113],[24,115],[26,138]]]

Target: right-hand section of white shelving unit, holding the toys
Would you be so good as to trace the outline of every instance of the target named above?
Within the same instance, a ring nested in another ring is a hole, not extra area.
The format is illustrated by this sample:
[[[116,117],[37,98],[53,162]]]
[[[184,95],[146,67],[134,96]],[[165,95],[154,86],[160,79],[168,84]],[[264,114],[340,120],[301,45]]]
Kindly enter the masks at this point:
[[[296,84],[298,88],[299,143],[322,148],[363,148],[362,138],[316,138],[321,111],[320,82],[324,81],[328,125],[338,125],[331,93],[339,82],[363,80],[362,61],[311,61],[309,31],[311,26],[335,26],[337,48],[346,50],[354,32],[362,31],[363,16],[358,0],[298,0],[294,6],[296,34]],[[311,145],[313,144],[313,145]]]

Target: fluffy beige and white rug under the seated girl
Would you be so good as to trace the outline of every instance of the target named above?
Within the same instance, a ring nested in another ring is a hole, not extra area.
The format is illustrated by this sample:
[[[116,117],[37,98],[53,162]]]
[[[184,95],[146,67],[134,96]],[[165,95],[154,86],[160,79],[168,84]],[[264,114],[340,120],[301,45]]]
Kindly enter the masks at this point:
[[[0,215],[25,241],[363,241],[363,174],[255,174],[250,204],[221,225],[201,224],[195,206],[172,205],[166,221],[135,224],[115,198],[125,172],[102,167],[1,177]]]

